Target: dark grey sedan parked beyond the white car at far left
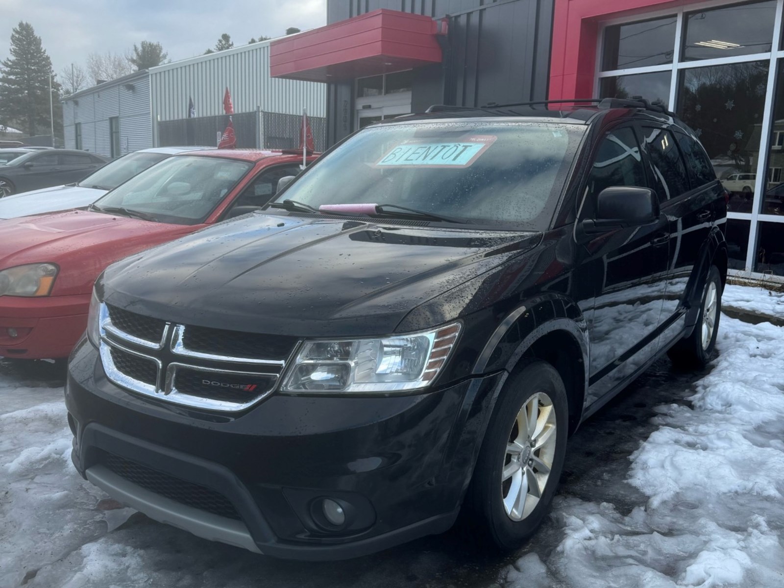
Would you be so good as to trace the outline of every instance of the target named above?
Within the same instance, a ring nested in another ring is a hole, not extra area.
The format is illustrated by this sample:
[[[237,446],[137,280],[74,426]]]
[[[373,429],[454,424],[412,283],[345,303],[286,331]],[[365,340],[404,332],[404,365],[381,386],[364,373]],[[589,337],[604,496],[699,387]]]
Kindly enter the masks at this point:
[[[87,151],[31,150],[0,166],[0,198],[78,182],[109,161]]]

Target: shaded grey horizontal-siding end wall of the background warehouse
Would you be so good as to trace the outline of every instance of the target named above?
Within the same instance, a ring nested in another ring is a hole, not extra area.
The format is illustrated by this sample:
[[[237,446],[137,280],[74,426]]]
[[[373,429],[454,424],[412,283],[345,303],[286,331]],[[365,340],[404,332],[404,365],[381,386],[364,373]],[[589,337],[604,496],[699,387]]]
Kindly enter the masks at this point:
[[[75,147],[74,125],[82,123],[82,148],[100,155],[111,155],[109,118],[120,119],[120,153],[153,146],[150,114],[150,75],[106,82],[82,91],[63,103],[66,147]]]

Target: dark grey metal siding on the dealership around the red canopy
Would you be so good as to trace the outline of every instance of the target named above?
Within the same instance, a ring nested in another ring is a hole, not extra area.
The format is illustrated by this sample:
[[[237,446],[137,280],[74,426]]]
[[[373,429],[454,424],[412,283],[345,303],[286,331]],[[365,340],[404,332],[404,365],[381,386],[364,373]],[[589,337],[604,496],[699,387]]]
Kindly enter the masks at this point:
[[[415,70],[412,111],[433,103],[482,106],[546,100],[554,0],[328,0],[327,22],[377,9],[449,19],[441,65]],[[343,108],[349,104],[348,125]],[[330,84],[329,144],[354,125],[352,84]]]

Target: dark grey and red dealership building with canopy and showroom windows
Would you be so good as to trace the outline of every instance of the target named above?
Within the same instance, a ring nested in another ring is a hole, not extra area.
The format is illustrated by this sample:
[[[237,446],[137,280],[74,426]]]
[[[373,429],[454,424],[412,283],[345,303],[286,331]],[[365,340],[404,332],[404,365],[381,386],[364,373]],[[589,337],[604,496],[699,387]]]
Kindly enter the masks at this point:
[[[784,281],[784,0],[328,0],[271,43],[322,82],[327,142],[430,104],[644,96],[700,136],[732,192],[733,273]]]

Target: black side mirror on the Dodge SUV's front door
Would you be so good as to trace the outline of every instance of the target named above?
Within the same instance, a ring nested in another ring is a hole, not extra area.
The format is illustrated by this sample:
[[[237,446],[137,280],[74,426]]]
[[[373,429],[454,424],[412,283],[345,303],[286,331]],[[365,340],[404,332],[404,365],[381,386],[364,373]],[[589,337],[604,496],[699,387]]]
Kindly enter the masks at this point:
[[[650,188],[604,188],[596,202],[596,218],[583,220],[588,234],[626,227],[642,227],[659,220],[659,198]]]

